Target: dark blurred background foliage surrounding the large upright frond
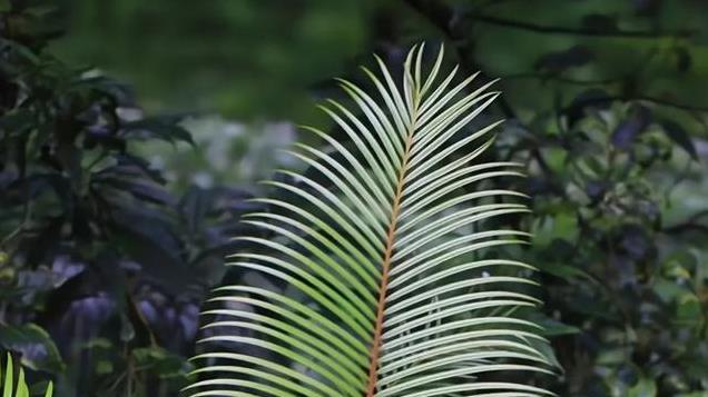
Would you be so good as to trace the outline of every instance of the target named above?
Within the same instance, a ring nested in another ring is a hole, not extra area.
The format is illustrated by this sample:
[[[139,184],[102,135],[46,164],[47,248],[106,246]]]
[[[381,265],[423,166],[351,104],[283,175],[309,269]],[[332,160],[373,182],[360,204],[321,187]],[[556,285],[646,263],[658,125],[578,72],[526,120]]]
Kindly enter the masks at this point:
[[[0,0],[0,349],[59,396],[177,395],[275,149],[422,40],[501,78],[554,390],[708,396],[698,0]]]

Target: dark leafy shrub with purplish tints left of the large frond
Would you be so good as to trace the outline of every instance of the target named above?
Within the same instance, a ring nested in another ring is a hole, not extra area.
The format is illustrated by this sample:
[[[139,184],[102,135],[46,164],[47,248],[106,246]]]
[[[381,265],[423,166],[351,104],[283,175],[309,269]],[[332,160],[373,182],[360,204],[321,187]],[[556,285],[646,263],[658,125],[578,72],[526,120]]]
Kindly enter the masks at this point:
[[[137,149],[191,145],[180,118],[145,117],[125,86],[52,57],[50,8],[2,4],[0,346],[61,395],[174,393],[249,195],[170,192]]]

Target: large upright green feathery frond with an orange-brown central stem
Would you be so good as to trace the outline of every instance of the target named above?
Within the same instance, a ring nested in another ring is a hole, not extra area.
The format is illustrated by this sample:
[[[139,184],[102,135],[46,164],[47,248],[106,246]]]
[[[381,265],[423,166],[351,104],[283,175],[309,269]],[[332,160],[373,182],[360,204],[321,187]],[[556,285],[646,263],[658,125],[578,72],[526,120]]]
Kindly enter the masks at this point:
[[[442,49],[423,79],[422,54],[422,46],[411,50],[400,87],[378,58],[380,77],[364,68],[378,101],[340,80],[361,118],[335,101],[322,108],[354,149],[306,128],[332,148],[298,145],[293,153],[317,177],[283,171],[294,182],[271,181],[287,198],[262,199],[274,211],[246,221],[275,237],[240,238],[263,249],[229,264],[279,279],[299,297],[218,288],[207,305],[222,307],[205,314],[215,318],[206,328],[222,334],[201,343],[244,349],[196,357],[205,363],[197,373],[210,376],[188,388],[191,396],[550,395],[490,377],[551,366],[534,347],[537,327],[510,315],[538,302],[514,291],[532,284],[514,276],[531,267],[479,257],[527,236],[479,228],[528,211],[510,202],[523,195],[469,189],[521,176],[514,163],[478,160],[498,122],[465,133],[498,92],[488,92],[490,83],[469,92],[474,77],[453,83],[456,68],[437,79]],[[510,276],[482,271],[510,268]]]

